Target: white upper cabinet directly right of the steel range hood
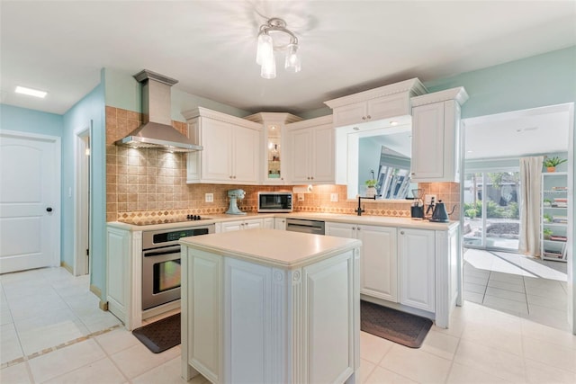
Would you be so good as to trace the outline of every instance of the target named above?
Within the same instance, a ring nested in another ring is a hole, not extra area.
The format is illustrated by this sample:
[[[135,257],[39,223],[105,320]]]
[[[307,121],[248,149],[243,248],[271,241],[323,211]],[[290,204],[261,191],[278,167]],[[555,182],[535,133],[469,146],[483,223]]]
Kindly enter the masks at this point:
[[[187,183],[260,183],[261,124],[205,108],[183,114],[203,147],[188,154]]]

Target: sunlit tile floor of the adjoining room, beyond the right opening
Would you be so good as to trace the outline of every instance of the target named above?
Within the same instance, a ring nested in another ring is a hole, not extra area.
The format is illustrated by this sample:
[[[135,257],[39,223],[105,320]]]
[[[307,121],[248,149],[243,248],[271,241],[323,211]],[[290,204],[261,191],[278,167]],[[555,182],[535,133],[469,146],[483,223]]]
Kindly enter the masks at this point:
[[[464,299],[569,330],[566,263],[467,249]]]

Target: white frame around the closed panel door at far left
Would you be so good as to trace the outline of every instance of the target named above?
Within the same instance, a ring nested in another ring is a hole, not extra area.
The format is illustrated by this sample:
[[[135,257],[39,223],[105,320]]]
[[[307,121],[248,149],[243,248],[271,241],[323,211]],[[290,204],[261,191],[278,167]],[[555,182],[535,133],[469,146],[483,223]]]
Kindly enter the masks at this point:
[[[33,140],[42,140],[48,141],[53,143],[55,147],[54,156],[56,162],[56,170],[55,173],[51,175],[55,180],[54,188],[55,188],[55,196],[54,201],[50,203],[53,210],[58,212],[58,215],[55,215],[56,220],[56,228],[58,236],[54,238],[52,243],[52,249],[50,249],[50,265],[51,266],[60,266],[62,256],[61,256],[61,238],[62,238],[62,140],[58,136],[51,136],[51,135],[43,135],[40,133],[32,133],[32,132],[24,132],[20,130],[9,130],[9,129],[0,129],[0,135],[4,137],[12,137],[12,138],[23,138],[23,139],[33,139]]]

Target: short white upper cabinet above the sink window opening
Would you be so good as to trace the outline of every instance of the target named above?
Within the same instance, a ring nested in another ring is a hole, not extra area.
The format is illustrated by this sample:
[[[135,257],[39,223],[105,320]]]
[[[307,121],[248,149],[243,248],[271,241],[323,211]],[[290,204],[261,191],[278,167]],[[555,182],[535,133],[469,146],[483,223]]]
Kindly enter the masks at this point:
[[[334,127],[379,121],[410,114],[410,97],[426,94],[418,78],[350,94],[325,102],[334,115]]]

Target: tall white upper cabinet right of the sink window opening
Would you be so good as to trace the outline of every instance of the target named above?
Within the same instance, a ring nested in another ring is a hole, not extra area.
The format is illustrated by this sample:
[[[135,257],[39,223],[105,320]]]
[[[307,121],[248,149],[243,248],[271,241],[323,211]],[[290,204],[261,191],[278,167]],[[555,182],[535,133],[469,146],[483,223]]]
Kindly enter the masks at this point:
[[[460,106],[466,100],[464,87],[412,97],[412,182],[459,181]]]

